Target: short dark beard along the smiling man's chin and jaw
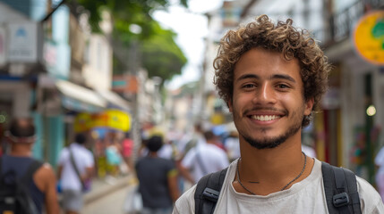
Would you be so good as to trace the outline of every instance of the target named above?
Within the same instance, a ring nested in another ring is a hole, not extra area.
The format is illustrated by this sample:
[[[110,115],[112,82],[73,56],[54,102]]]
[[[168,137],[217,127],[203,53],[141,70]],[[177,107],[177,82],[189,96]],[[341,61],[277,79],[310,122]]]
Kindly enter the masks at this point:
[[[252,139],[250,136],[243,136],[244,140],[252,145],[252,147],[255,147],[257,149],[273,149],[276,148],[278,145],[283,144],[286,142],[286,139],[290,136],[294,136],[300,128],[302,128],[302,124],[298,123],[295,124],[292,128],[289,128],[286,134],[269,138],[269,139],[262,139],[262,140],[257,140],[257,139]]]

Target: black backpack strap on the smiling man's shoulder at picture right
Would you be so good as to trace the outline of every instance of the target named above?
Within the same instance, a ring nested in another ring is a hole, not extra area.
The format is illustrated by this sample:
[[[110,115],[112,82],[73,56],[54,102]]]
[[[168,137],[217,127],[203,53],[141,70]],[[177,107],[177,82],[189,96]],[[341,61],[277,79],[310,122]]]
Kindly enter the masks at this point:
[[[321,163],[321,171],[329,213],[362,213],[354,173],[326,162]]]

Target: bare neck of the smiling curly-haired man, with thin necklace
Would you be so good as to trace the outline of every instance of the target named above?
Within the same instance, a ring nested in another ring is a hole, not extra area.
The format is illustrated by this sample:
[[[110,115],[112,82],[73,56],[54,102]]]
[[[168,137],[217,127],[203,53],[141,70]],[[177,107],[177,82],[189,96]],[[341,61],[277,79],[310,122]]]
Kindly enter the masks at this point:
[[[242,158],[239,162],[239,175],[241,182],[253,193],[267,195],[278,192],[303,170],[305,159],[301,149],[301,136],[290,137],[276,148],[261,150],[252,147],[240,138],[240,149]],[[303,174],[291,185],[311,174],[314,161],[309,158],[306,160]],[[250,181],[260,183],[255,184],[250,183]],[[291,185],[287,186],[286,189]],[[237,185],[235,189],[247,193],[243,191],[241,186]]]

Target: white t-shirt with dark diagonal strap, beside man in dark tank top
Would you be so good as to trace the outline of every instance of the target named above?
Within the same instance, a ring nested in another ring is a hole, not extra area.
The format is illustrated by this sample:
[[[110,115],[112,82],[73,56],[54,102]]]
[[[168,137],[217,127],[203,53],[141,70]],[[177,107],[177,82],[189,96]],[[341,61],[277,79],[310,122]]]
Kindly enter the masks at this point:
[[[92,152],[86,149],[83,145],[71,144],[69,147],[73,152],[74,161],[81,175],[86,172],[86,168],[94,166]],[[80,191],[81,182],[73,169],[70,152],[67,147],[60,152],[58,165],[63,166],[62,177],[60,177],[61,187],[66,190],[70,189]]]

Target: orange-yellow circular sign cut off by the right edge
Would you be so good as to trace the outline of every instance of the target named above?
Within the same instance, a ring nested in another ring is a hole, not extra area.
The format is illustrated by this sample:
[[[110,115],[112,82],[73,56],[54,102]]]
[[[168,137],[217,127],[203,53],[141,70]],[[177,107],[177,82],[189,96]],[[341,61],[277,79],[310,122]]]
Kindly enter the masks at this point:
[[[357,22],[354,48],[366,61],[384,65],[384,11],[370,12]]]

